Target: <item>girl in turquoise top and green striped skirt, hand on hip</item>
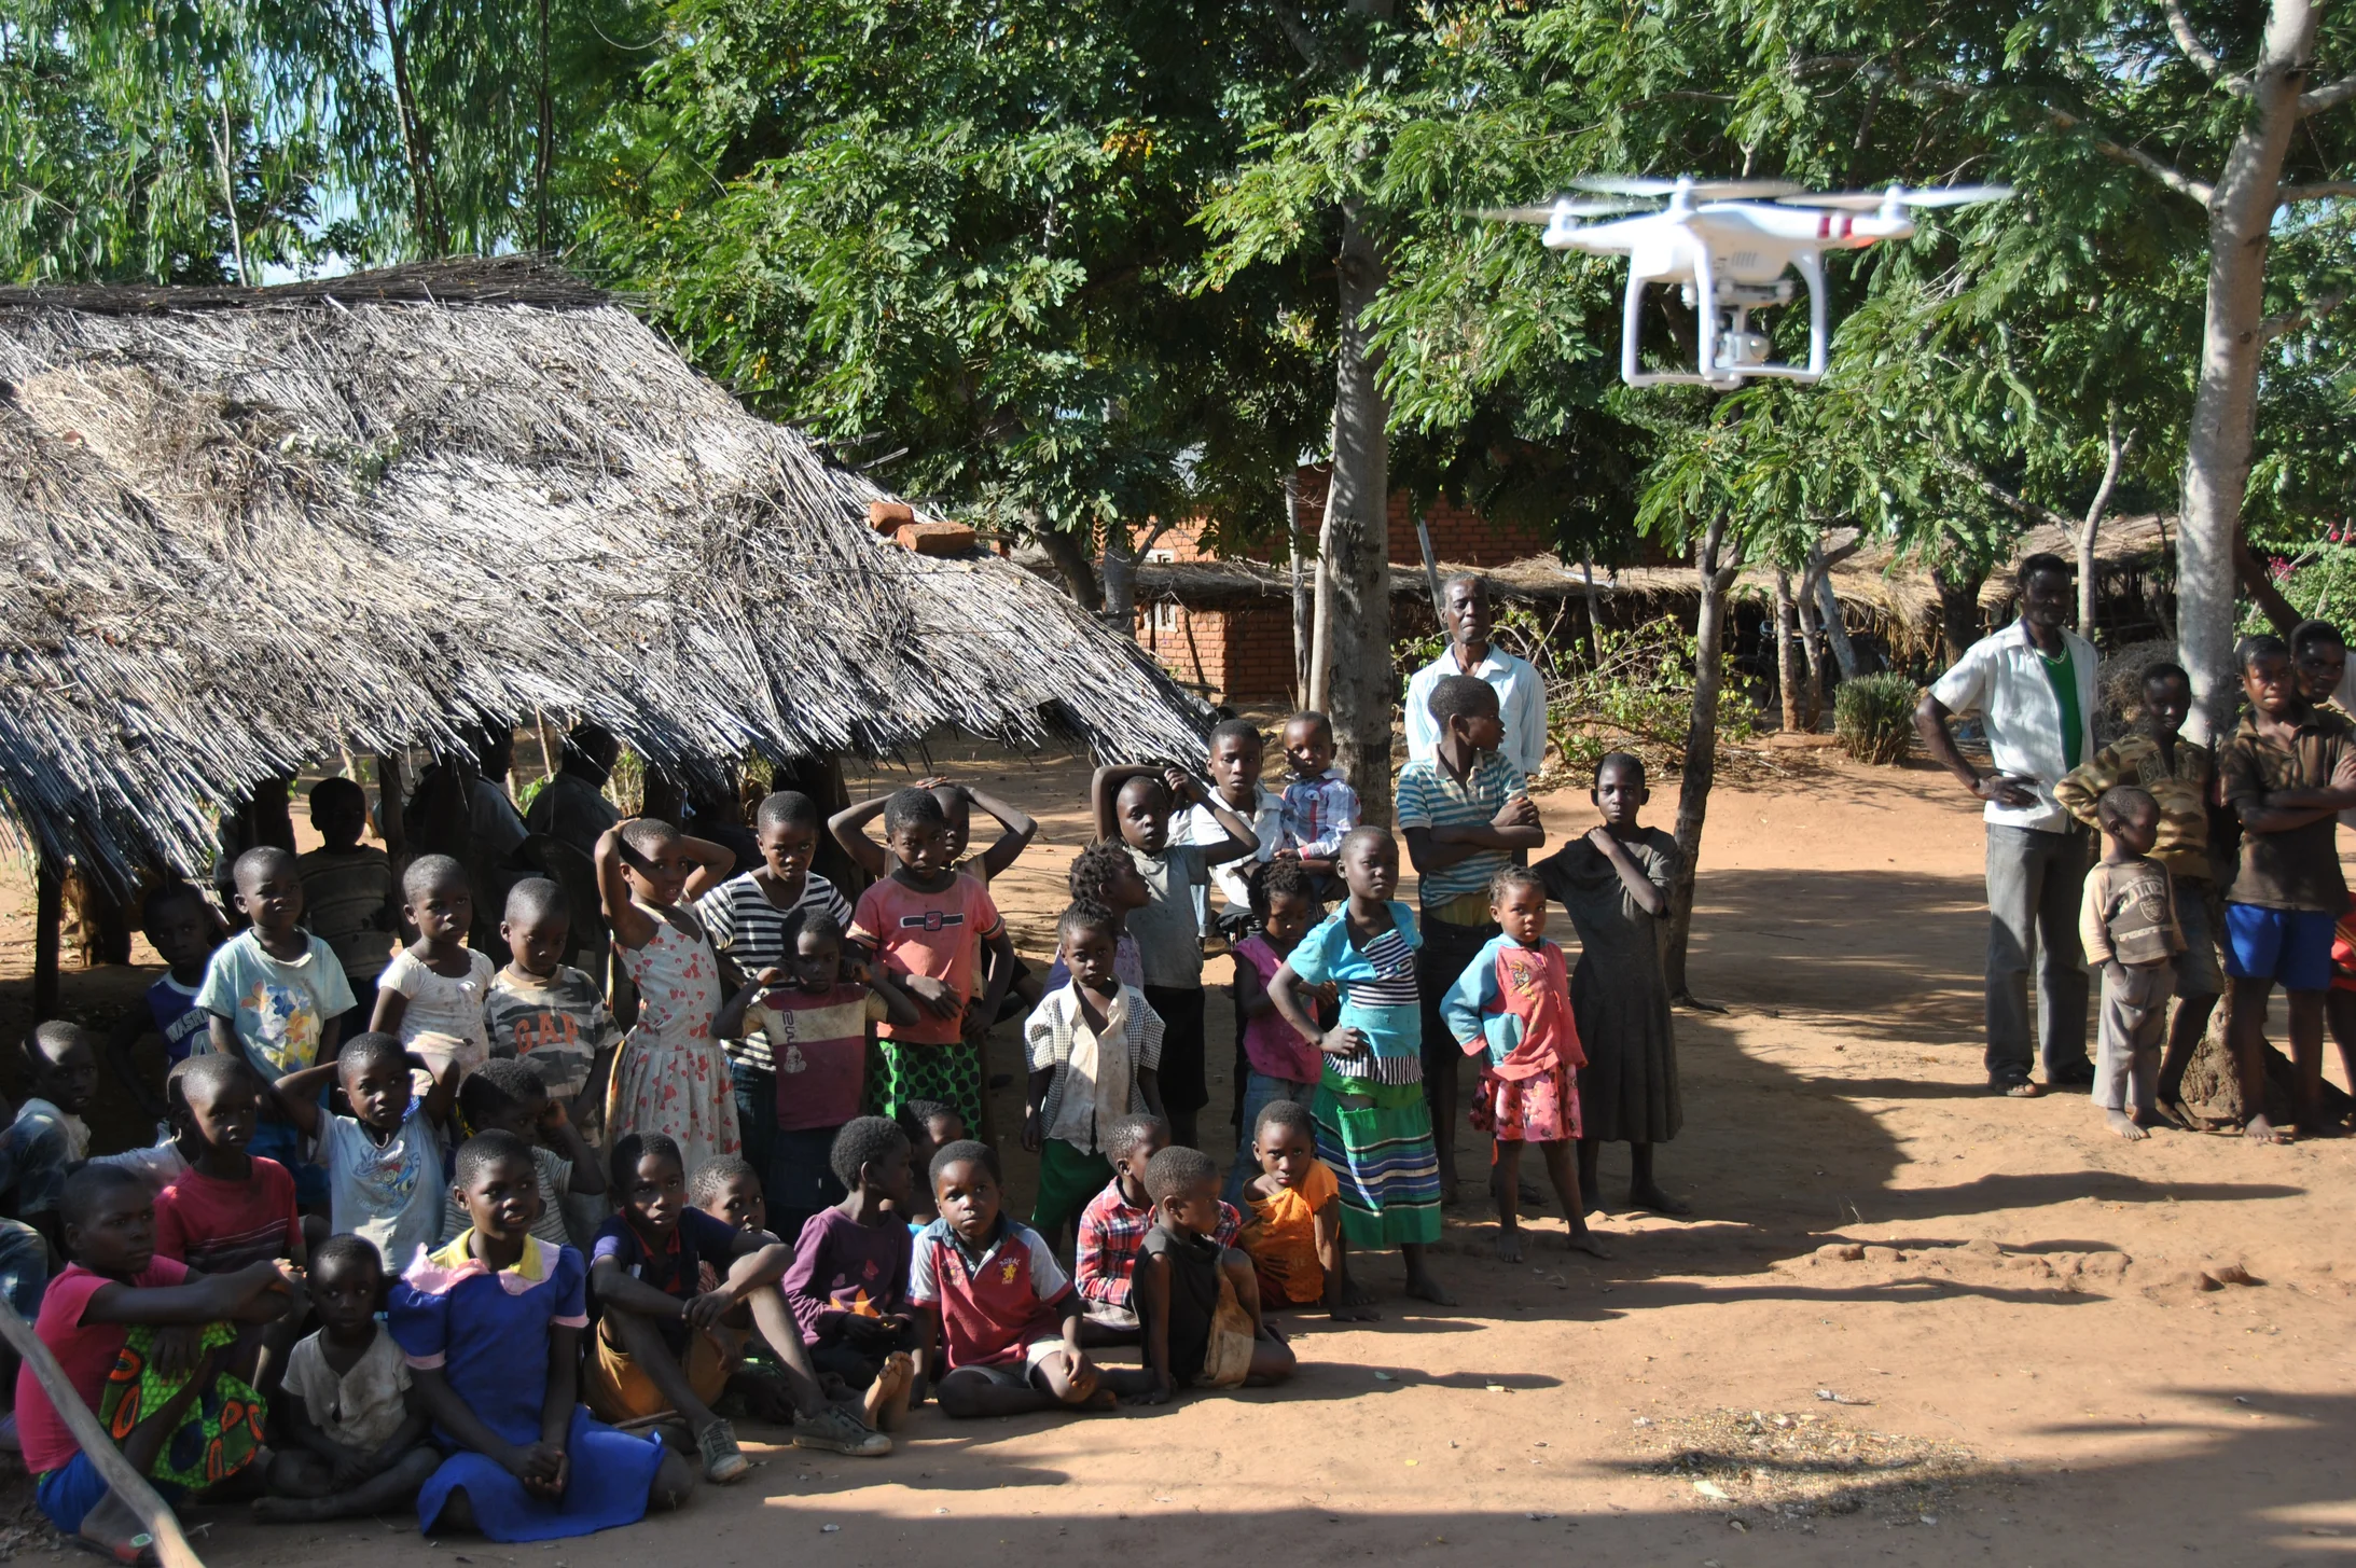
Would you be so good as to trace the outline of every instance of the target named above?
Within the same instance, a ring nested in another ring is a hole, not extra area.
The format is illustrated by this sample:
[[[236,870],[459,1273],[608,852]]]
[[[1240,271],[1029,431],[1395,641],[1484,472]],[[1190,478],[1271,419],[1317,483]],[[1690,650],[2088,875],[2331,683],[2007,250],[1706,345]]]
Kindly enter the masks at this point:
[[[1451,1297],[1425,1262],[1425,1248],[1440,1241],[1440,1163],[1423,1099],[1416,911],[1390,897],[1399,885],[1399,850],[1383,829],[1359,826],[1343,838],[1341,873],[1348,904],[1301,939],[1270,977],[1268,996],[1324,1055],[1310,1116],[1317,1158],[1343,1177],[1341,1222],[1350,1245],[1399,1248],[1407,1293],[1447,1307]],[[1341,991],[1341,1022],[1319,1031],[1310,994],[1329,982]],[[1345,1302],[1369,1300],[1352,1281]]]

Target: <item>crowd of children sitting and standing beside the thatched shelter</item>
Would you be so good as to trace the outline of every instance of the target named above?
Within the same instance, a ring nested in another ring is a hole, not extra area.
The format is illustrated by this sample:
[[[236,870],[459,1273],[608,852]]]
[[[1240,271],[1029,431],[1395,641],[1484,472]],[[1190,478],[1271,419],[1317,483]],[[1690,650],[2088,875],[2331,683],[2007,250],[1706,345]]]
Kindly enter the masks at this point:
[[[243,1488],[262,1519],[415,1497],[422,1528],[495,1540],[742,1476],[737,1417],[879,1455],[924,1398],[966,1417],[1279,1382],[1272,1311],[1374,1316],[1352,1245],[1399,1248],[1409,1293],[1449,1300],[1425,1250],[1454,1180],[1442,1085],[1465,1057],[1501,1255],[1520,1257],[1524,1142],[1571,1245],[1597,1250],[1597,1137],[1635,1144],[1637,1203],[1675,1208],[1649,1161],[1677,1130],[1652,958],[1675,845],[1637,824],[1642,765],[1607,758],[1602,824],[1527,866],[1543,831],[1496,758],[1496,695],[1442,680],[1432,713],[1440,753],[1399,782],[1421,909],[1392,897],[1397,845],[1355,819],[1322,716],[1284,725],[1282,789],[1227,720],[1209,786],[1098,770],[1100,836],[1044,979],[987,888],[1034,826],[980,791],[928,779],[827,824],[773,793],[742,873],[721,843],[620,822],[594,864],[636,989],[627,1031],[563,963],[556,883],[514,885],[504,965],[469,944],[455,859],[401,866],[384,918],[346,876],[353,803],[323,784],[346,928],[330,939],[309,911],[320,852],[250,850],[226,939],[196,890],[146,899],[167,972],[104,1052],[71,1024],[33,1036],[35,1099],[0,1135],[31,1241],[0,1236],[0,1288],[38,1302],[40,1337],[167,1495]],[[975,808],[1006,831],[968,855]],[[822,826],[874,876],[855,902],[810,869]],[[1548,897],[1581,932],[1576,975]],[[389,954],[365,935],[389,949],[396,930]],[[1235,956],[1225,1177],[1199,1149],[1206,939]],[[1027,1224],[985,1102],[1001,1008],[1025,1015]],[[148,1029],[160,1085],[132,1062]],[[153,1149],[87,1158],[99,1055],[167,1121]],[[45,1245],[71,1264],[42,1295],[38,1262],[31,1288],[9,1269]],[[1100,1366],[1117,1344],[1138,1366]],[[16,1410],[52,1521],[134,1556],[130,1511],[31,1373]]]

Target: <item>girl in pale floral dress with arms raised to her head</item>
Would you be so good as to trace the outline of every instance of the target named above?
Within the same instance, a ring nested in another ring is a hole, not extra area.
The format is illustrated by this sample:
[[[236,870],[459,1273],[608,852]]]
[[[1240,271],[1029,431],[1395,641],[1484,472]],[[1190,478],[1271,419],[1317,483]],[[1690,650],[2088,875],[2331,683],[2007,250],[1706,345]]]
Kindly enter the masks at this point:
[[[714,1038],[719,958],[688,899],[735,857],[669,822],[634,817],[596,841],[598,892],[622,968],[638,986],[638,1024],[605,1085],[605,1137],[674,1140],[690,1165],[740,1147],[728,1057]]]

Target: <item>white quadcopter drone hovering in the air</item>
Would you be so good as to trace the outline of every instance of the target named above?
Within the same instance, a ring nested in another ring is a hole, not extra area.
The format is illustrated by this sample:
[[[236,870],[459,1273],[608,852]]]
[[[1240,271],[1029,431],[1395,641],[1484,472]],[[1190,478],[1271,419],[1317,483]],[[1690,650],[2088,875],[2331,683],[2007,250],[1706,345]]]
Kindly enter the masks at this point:
[[[1491,207],[1487,219],[1546,224],[1548,250],[1628,257],[1628,304],[1621,313],[1621,379],[1628,386],[1741,386],[1751,377],[1809,384],[1824,377],[1824,252],[1864,250],[1875,240],[1906,240],[1915,224],[1908,207],[1998,202],[2010,186],[1944,186],[1937,191],[1802,193],[1779,179],[1642,179],[1602,174],[1574,179],[1597,198],[1560,195],[1546,207]],[[1654,205],[1668,198],[1666,207]],[[1609,224],[1579,219],[1635,212]],[[1857,214],[1857,217],[1852,217]],[[1753,311],[1791,304],[1786,271],[1807,280],[1807,365],[1769,360],[1767,334]],[[1637,327],[1644,285],[1680,283],[1685,304],[1708,306],[1692,372],[1637,367]]]

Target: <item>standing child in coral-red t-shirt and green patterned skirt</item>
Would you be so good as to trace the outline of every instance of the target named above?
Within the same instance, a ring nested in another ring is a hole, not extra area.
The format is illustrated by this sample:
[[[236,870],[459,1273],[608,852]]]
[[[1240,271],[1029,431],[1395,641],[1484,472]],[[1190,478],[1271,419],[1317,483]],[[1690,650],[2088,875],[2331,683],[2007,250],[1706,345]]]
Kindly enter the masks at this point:
[[[916,1022],[879,1031],[876,1109],[898,1116],[909,1099],[940,1099],[968,1128],[985,1128],[982,1034],[1006,998],[1015,944],[990,890],[949,869],[949,819],[933,791],[893,793],[884,805],[884,841],[900,864],[860,895],[851,939],[916,1001]],[[985,946],[990,970],[975,1001]]]

